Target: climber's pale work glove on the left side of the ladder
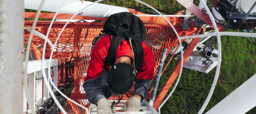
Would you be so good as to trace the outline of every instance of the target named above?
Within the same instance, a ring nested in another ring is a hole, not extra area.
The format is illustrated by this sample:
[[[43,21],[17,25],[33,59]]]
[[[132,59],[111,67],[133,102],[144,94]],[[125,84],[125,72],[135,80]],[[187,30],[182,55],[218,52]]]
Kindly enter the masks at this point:
[[[115,113],[115,107],[111,108],[111,103],[106,98],[102,98],[97,102],[97,113],[112,114]]]

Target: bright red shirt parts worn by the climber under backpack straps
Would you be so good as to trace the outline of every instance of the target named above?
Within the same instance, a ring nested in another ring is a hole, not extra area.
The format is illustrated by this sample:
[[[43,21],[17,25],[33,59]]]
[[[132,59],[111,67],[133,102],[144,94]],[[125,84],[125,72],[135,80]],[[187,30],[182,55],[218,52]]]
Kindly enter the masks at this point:
[[[112,35],[111,35],[112,37]],[[87,76],[85,81],[98,78],[104,67],[104,61],[107,58],[108,50],[110,47],[109,35],[102,37],[95,44],[94,49],[91,50],[91,60],[87,70]],[[154,78],[154,53],[147,47],[147,45],[142,42],[142,47],[144,50],[144,57],[142,61],[141,69],[137,70],[137,79],[150,79]],[[123,40],[119,45],[117,51],[115,52],[115,59],[120,56],[130,56],[132,58],[132,50],[129,42]]]

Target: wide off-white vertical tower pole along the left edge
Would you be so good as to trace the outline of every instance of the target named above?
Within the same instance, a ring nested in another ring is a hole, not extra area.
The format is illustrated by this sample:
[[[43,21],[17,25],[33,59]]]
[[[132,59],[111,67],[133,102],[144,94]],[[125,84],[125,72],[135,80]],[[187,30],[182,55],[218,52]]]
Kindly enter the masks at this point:
[[[24,1],[0,1],[0,113],[22,113]]]

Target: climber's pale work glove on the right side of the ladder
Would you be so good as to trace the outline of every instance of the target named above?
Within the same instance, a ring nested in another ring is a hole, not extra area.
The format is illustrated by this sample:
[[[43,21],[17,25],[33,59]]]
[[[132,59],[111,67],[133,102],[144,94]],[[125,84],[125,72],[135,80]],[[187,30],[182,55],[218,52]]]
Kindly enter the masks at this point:
[[[141,109],[141,100],[132,96],[123,106],[123,111],[139,111]]]

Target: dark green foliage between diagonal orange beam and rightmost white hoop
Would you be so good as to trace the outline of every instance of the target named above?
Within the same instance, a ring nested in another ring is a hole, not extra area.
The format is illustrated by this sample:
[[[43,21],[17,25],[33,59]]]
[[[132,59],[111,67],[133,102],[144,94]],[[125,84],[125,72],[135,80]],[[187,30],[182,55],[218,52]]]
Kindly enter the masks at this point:
[[[160,83],[166,82],[176,63],[177,61],[173,61],[168,66]],[[167,103],[161,108],[161,113],[196,113],[199,111],[206,98],[205,93],[211,88],[213,78],[212,73],[204,74],[183,68],[179,84]],[[164,86],[163,84],[159,85],[159,90]],[[175,82],[172,85],[174,86],[174,84]]]

